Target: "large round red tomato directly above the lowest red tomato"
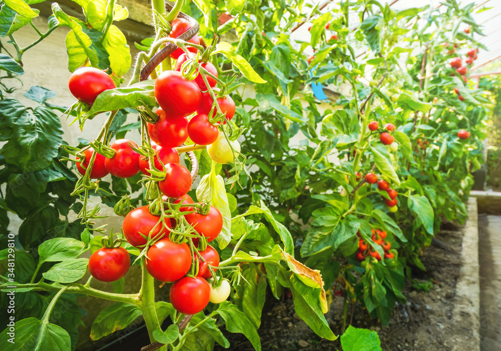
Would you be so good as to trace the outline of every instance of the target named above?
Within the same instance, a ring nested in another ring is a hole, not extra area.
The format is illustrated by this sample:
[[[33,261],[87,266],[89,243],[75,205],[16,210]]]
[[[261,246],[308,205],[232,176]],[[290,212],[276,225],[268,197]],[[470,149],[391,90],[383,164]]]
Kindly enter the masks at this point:
[[[146,270],[157,280],[173,282],[181,279],[191,267],[191,252],[185,242],[176,244],[163,238],[148,249]]]

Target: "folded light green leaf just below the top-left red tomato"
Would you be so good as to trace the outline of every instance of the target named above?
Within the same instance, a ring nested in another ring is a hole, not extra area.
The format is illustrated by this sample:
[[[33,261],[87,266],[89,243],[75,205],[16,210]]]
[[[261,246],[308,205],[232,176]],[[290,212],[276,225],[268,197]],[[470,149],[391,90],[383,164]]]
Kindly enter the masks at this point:
[[[100,112],[120,110],[126,107],[156,106],[154,86],[155,81],[145,80],[128,87],[105,90],[98,95],[92,108],[84,116],[90,117]]]

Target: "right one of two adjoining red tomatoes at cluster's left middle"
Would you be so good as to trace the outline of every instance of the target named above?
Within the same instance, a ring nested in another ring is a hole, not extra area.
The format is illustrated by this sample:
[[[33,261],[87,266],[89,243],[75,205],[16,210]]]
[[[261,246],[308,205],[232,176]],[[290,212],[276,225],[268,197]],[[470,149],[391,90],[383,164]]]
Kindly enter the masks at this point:
[[[127,139],[118,139],[110,145],[115,150],[115,156],[104,160],[106,170],[115,177],[129,178],[139,172],[139,154],[132,150],[129,143],[137,147],[136,143]]]

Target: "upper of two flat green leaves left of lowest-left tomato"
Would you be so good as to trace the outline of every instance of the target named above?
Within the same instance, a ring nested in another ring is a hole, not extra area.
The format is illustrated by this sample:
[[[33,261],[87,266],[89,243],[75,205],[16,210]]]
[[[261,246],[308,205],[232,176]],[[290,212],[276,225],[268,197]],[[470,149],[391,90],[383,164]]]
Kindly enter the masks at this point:
[[[44,241],[38,247],[40,262],[58,262],[77,258],[85,244],[72,238],[54,238]]]

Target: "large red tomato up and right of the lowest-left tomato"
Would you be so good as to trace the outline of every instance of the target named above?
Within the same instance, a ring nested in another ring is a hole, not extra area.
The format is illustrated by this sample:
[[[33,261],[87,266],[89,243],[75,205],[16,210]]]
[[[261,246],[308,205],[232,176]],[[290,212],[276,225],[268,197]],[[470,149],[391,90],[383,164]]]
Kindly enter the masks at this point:
[[[127,241],[135,247],[141,247],[146,245],[147,239],[141,234],[148,237],[151,233],[151,237],[154,239],[160,239],[165,236],[168,237],[169,230],[162,226],[162,223],[158,223],[160,219],[159,216],[154,216],[148,210],[148,206],[138,207],[133,209],[124,218],[122,224],[124,230],[124,236]],[[158,223],[158,224],[157,224]],[[170,221],[165,221],[165,224],[170,228]]]

